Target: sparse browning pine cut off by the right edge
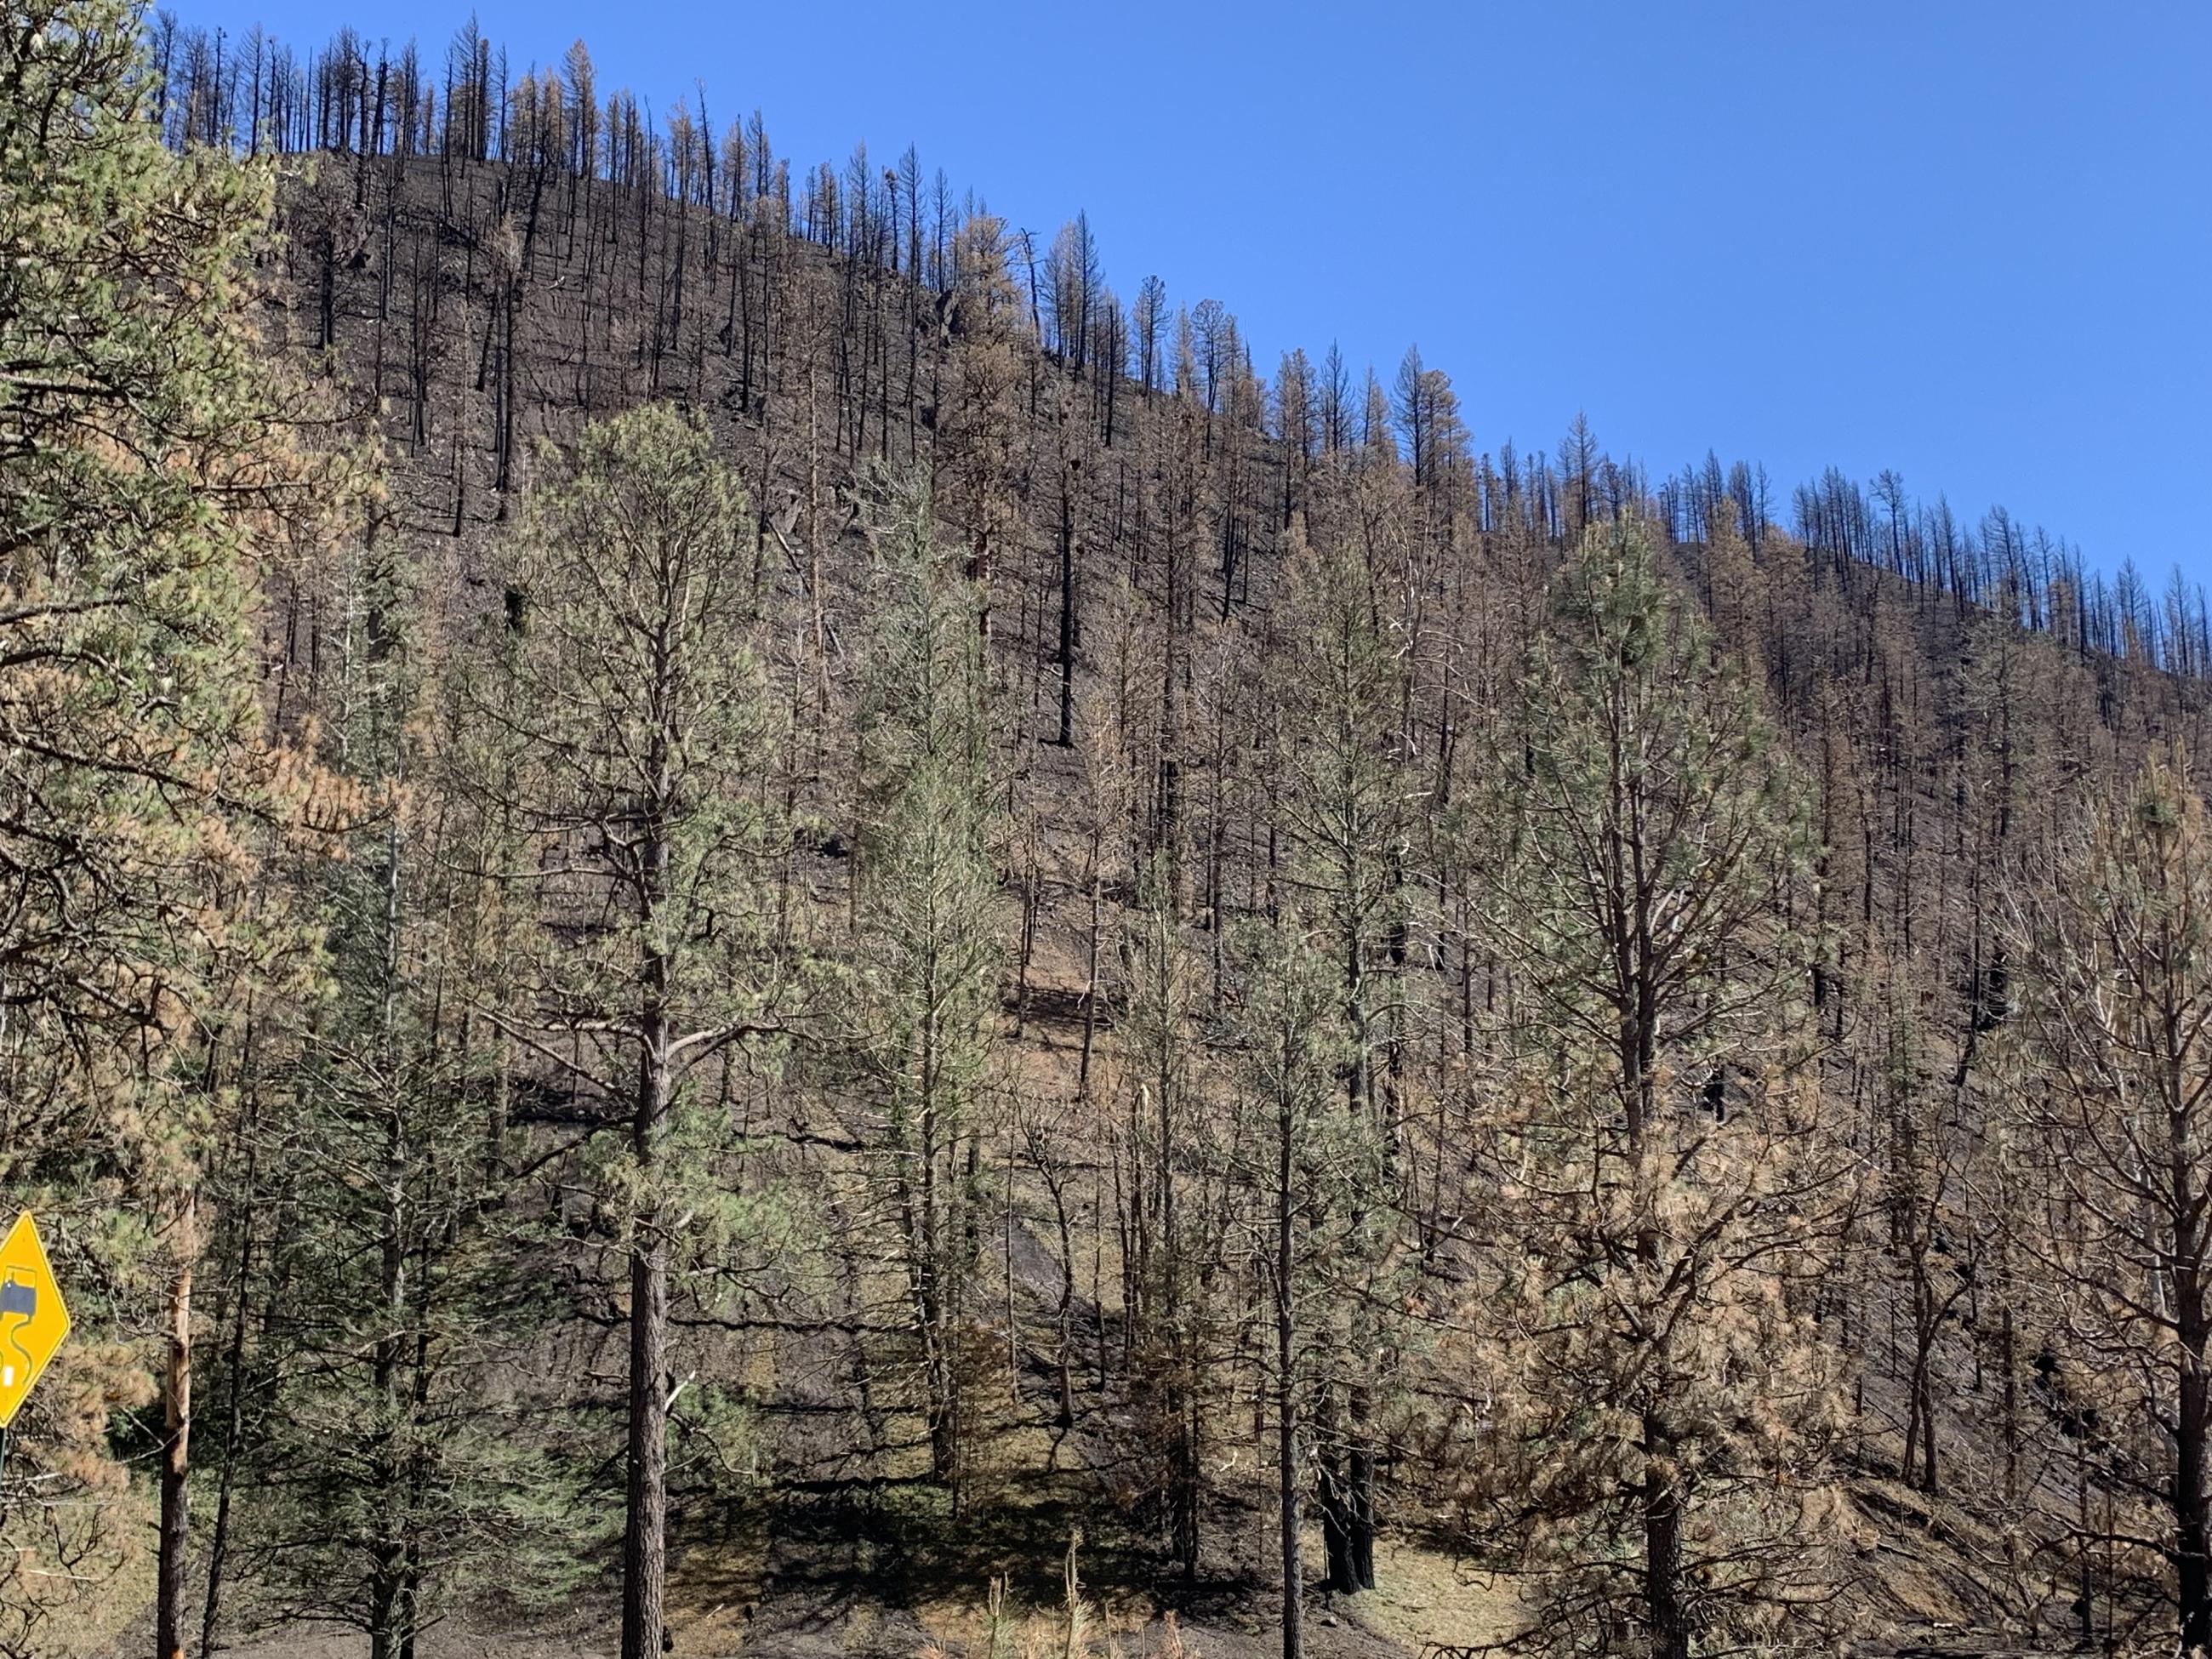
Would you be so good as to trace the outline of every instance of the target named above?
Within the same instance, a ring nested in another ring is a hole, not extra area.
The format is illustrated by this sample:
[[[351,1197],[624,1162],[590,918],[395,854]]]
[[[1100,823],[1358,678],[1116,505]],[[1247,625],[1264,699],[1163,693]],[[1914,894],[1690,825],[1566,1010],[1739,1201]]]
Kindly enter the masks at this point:
[[[2152,759],[2079,812],[2022,885],[2024,1135],[2064,1285],[2051,1387],[2104,1407],[2161,1500],[2181,1652],[2212,1650],[2212,823]],[[2064,1367],[2059,1371],[2059,1367]],[[2079,1407],[2077,1407],[2079,1409]]]

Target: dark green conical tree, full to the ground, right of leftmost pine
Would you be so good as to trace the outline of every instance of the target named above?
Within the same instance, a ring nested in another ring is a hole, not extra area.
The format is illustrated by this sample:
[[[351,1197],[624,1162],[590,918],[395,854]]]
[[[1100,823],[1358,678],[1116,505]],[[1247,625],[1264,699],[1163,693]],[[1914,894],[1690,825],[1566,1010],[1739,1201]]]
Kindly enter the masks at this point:
[[[451,787],[460,708],[394,551],[338,577],[323,734],[363,807],[345,856],[296,872],[325,967],[296,1035],[263,1040],[215,1179],[239,1265],[204,1613],[204,1641],[226,1613],[332,1619],[372,1659],[405,1659],[456,1604],[568,1590],[606,1542],[571,1420],[500,1383],[549,1340],[526,1312],[549,1301],[531,1250],[555,1252],[498,1190],[511,1048],[476,1015],[513,971],[509,894],[482,858],[511,803],[487,823],[484,792]]]

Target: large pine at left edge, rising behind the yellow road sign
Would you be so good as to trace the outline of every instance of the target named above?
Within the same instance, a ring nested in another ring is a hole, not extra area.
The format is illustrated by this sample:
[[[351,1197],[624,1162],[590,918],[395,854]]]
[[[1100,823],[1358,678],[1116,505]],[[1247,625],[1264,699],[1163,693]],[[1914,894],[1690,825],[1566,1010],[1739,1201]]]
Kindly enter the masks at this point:
[[[159,1281],[164,1659],[184,1650],[197,1188],[226,1086],[212,1002],[281,951],[248,920],[259,836],[299,801],[263,741],[248,560],[307,484],[283,372],[246,314],[272,177],[173,153],[139,11],[31,0],[0,38],[0,1181],[40,1201],[64,1261],[128,1303]],[[137,1194],[144,1230],[119,1225]],[[148,1239],[157,1243],[148,1250]],[[88,1325],[153,1323],[84,1305]],[[106,1467],[137,1354],[80,1340],[18,1427],[11,1473]],[[75,1391],[71,1385],[75,1374]],[[64,1407],[62,1400],[73,1400]],[[29,1639],[80,1582],[38,1566],[0,1489],[0,1635]],[[44,1498],[58,1489],[49,1482]],[[44,1513],[44,1506],[40,1506]],[[102,1502],[77,1511],[93,1544]],[[66,1528],[64,1528],[66,1531]],[[15,1544],[22,1542],[22,1548]],[[49,1540],[53,1542],[53,1540]]]

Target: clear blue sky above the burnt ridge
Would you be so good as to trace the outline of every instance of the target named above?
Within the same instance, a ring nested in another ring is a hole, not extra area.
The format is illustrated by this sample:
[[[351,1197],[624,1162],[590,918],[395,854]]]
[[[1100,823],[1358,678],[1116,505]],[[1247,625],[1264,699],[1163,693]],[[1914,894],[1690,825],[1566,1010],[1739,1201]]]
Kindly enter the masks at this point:
[[[467,7],[184,0],[296,46]],[[1221,299],[1263,374],[1409,343],[1475,440],[1586,409],[1666,473],[1823,465],[2112,568],[2212,580],[2212,2],[1349,7],[484,0],[511,69],[703,80],[783,155],[914,142],[1018,226],[1088,210],[1128,296]]]

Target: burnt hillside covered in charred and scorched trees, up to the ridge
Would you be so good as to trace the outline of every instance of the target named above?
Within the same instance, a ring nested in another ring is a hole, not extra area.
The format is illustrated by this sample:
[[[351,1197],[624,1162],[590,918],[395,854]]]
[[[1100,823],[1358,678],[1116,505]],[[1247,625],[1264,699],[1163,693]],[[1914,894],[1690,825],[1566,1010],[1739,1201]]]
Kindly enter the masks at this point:
[[[1261,378],[580,55],[157,51],[279,137],[252,327],[376,478],[250,560],[343,810],[190,1073],[217,1646],[635,1646],[650,1442],[677,1655],[1073,1652],[1071,1571],[1210,1659],[2172,1650],[2201,599]],[[104,1157],[9,1179],[175,1358]],[[40,1478],[150,1515],[142,1409]],[[119,1533],[24,1652],[144,1646]]]

